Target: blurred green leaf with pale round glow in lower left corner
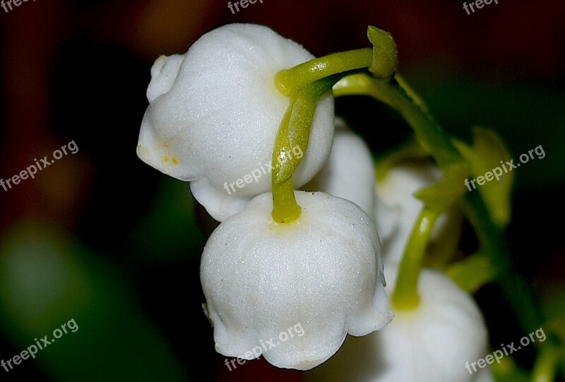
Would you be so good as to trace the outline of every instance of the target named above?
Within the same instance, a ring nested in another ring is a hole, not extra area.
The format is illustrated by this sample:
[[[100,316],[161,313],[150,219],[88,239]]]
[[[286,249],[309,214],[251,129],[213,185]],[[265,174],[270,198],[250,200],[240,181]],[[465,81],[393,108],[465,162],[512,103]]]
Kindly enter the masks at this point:
[[[110,265],[42,225],[20,225],[0,248],[0,328],[21,350],[74,320],[78,326],[37,352],[56,381],[187,381],[158,330]],[[16,354],[1,354],[9,359]]]

